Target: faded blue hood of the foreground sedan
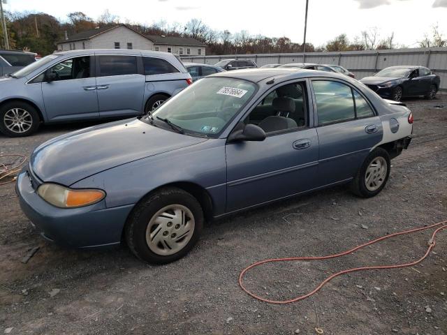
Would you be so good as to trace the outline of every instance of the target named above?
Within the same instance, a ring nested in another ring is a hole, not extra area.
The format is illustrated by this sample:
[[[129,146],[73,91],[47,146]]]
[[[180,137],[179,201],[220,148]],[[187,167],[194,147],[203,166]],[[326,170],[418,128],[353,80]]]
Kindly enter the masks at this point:
[[[47,141],[34,150],[30,167],[42,181],[70,186],[117,165],[206,140],[127,119]]]

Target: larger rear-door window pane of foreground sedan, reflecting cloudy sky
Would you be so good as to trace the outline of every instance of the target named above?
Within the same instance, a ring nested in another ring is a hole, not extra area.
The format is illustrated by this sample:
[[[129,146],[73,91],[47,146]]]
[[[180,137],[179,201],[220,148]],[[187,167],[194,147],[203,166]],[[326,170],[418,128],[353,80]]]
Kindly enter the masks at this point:
[[[356,118],[351,87],[340,82],[316,80],[312,82],[316,98],[318,126]]]

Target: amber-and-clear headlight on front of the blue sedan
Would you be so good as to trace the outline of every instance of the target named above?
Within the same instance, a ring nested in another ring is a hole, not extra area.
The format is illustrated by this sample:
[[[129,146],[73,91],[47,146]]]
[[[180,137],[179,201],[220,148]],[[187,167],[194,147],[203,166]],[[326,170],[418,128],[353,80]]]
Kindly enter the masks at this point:
[[[57,184],[42,184],[37,193],[46,202],[61,208],[88,206],[105,198],[105,192],[96,188],[71,189]]]

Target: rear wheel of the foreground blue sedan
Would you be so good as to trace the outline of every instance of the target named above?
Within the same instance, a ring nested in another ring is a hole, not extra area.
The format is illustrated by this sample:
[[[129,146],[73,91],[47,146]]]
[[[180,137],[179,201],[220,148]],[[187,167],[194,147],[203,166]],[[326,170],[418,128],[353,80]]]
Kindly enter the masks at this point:
[[[374,197],[385,187],[390,176],[390,168],[388,151],[382,148],[374,149],[351,182],[351,190],[362,198]]]

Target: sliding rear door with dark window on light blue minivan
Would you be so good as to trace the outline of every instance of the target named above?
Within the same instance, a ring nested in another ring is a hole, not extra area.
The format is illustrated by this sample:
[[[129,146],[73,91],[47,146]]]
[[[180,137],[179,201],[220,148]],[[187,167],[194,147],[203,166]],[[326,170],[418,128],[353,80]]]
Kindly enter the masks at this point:
[[[100,117],[142,114],[145,76],[141,57],[96,55],[96,91]]]

